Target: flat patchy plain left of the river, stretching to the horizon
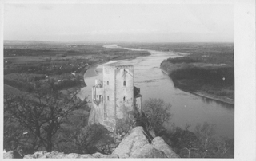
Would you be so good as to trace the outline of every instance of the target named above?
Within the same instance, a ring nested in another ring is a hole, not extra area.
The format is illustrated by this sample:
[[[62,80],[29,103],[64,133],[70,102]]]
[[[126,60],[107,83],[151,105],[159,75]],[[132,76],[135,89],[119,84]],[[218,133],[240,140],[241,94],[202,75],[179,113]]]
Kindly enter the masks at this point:
[[[106,49],[102,45],[5,41],[4,84],[25,92],[33,90],[35,81],[52,81],[58,89],[73,88],[85,85],[83,74],[92,65],[149,54],[127,49]],[[6,88],[6,92],[9,89]]]

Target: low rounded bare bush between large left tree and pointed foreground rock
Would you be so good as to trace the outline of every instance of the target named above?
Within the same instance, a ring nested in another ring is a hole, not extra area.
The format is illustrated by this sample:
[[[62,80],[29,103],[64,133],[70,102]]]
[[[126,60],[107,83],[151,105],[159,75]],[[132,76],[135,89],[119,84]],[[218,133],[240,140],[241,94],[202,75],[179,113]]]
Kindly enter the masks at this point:
[[[59,151],[88,154],[100,151],[108,153],[110,144],[114,143],[111,133],[100,124],[86,127],[77,126],[73,131],[64,132],[58,141]]]

